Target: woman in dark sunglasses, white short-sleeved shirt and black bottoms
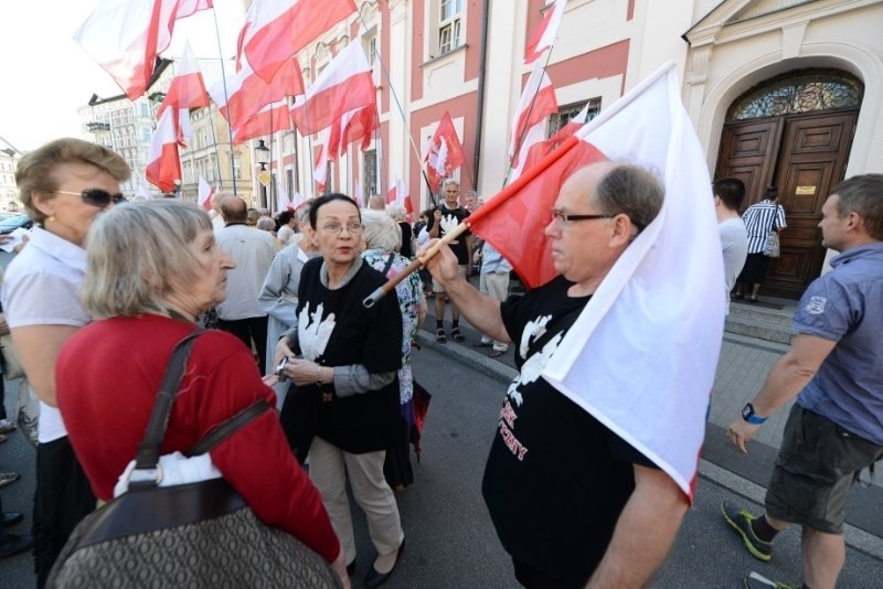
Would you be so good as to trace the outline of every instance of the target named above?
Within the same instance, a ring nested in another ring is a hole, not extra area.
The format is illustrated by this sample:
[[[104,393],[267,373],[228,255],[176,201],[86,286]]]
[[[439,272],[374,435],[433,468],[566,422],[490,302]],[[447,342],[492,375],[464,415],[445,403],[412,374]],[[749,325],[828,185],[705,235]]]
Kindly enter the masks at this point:
[[[2,303],[26,386],[40,399],[33,513],[38,587],[71,531],[95,508],[55,400],[55,361],[62,344],[91,320],[79,302],[86,233],[99,213],[124,200],[119,183],[129,173],[117,153],[79,139],[46,143],[26,153],[15,170],[34,227],[7,269]]]

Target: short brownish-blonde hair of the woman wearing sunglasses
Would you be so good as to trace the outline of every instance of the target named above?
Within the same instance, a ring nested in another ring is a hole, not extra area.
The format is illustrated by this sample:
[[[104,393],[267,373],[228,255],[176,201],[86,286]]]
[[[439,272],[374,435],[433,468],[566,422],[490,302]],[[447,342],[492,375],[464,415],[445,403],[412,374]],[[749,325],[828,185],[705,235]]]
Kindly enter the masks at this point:
[[[131,175],[129,164],[118,153],[104,146],[73,139],[55,139],[25,153],[15,168],[15,184],[28,216],[36,223],[45,221],[46,215],[34,206],[34,193],[53,194],[58,190],[61,178],[55,169],[63,163],[87,163],[125,182]]]

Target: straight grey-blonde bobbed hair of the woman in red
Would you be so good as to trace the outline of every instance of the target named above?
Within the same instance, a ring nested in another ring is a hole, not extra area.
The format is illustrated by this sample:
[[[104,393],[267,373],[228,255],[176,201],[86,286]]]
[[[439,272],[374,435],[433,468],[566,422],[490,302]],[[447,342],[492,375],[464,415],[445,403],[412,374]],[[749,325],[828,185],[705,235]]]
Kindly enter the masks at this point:
[[[199,275],[190,244],[212,231],[193,203],[126,203],[98,215],[89,229],[83,307],[95,318],[132,317],[166,309],[166,296]]]

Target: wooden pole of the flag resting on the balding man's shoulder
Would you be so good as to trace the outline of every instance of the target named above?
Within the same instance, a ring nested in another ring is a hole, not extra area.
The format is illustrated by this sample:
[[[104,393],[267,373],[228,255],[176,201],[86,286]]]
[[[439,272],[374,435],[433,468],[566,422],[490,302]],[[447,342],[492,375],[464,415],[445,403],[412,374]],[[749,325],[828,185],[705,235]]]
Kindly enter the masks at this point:
[[[405,278],[407,278],[415,270],[419,270],[423,268],[427,261],[433,259],[436,254],[438,254],[439,248],[443,244],[447,244],[453,242],[457,237],[459,237],[465,231],[470,228],[475,223],[481,221],[483,217],[488,216],[490,213],[496,211],[503,202],[506,202],[510,196],[519,192],[523,189],[529,182],[533,181],[538,175],[540,175],[544,170],[546,170],[550,165],[558,161],[565,153],[570,152],[573,148],[577,146],[581,139],[576,136],[568,137],[561,146],[553,151],[552,153],[544,157],[542,160],[536,162],[535,165],[532,165],[528,170],[524,171],[520,176],[518,176],[514,182],[509,184],[508,186],[503,188],[500,192],[493,195],[488,202],[481,206],[478,211],[466,217],[459,225],[450,229],[445,234],[444,237],[434,242],[428,249],[423,251],[422,254],[417,254],[416,259],[407,265],[405,269],[401,272],[395,275],[393,278],[387,280],[383,286],[377,288],[374,292],[368,296],[365,300],[362,301],[362,304],[370,309],[374,307],[379,300],[381,300],[385,294],[392,292],[395,287]]]

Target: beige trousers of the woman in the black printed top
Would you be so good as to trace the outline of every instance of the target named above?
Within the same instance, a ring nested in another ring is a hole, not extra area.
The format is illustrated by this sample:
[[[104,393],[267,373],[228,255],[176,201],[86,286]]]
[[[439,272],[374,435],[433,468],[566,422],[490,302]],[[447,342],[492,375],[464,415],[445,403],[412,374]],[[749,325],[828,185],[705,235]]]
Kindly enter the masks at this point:
[[[338,534],[347,564],[355,558],[350,501],[347,499],[347,475],[352,496],[368,518],[368,531],[377,554],[395,551],[405,535],[398,518],[398,505],[383,476],[386,452],[351,454],[318,436],[310,446],[310,479],[322,494],[322,503]]]

